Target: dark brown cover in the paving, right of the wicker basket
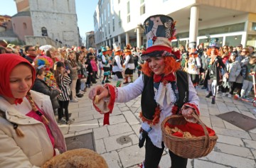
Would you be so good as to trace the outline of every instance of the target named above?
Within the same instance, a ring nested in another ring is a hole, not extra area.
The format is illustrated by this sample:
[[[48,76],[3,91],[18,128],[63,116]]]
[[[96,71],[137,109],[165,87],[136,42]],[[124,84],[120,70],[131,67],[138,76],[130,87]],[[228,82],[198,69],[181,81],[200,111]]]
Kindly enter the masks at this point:
[[[231,123],[242,130],[252,130],[256,128],[256,120],[254,118],[250,118],[236,111],[230,111],[228,113],[223,113],[217,115],[219,118]]]

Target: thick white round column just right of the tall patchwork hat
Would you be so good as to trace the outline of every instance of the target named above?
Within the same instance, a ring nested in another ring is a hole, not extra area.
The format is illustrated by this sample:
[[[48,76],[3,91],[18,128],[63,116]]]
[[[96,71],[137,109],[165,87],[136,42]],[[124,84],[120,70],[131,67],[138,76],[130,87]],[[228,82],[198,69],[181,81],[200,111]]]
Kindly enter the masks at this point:
[[[196,42],[196,38],[198,36],[198,18],[199,8],[198,6],[192,6],[189,23],[189,43]]]

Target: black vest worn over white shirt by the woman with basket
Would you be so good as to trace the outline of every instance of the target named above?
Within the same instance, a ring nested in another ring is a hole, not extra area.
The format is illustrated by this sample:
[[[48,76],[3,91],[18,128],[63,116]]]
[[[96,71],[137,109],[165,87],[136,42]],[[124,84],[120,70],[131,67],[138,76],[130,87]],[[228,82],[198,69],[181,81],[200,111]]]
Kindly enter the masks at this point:
[[[144,88],[142,91],[142,115],[147,120],[153,120],[155,109],[157,106],[154,100],[154,79],[153,77],[147,77],[143,75]],[[176,97],[176,105],[181,108],[184,103],[188,102],[188,74],[186,72],[178,70],[176,72],[176,86],[178,88],[178,97]],[[171,111],[170,111],[171,113]]]

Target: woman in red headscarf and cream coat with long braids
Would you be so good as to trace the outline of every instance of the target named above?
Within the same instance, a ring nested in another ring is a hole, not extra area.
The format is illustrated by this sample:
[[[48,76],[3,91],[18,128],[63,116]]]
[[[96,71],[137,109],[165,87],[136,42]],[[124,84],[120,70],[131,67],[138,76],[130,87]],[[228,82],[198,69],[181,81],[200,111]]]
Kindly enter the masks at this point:
[[[0,55],[0,167],[41,167],[66,151],[50,97],[31,91],[36,72],[23,57]]]

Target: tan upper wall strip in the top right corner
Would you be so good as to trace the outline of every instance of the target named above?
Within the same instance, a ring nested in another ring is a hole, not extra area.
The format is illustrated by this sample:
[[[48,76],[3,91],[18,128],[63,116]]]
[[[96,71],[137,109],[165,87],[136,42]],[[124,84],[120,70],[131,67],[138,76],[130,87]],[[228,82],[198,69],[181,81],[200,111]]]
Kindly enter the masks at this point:
[[[196,0],[197,4],[255,13],[255,0]]]

